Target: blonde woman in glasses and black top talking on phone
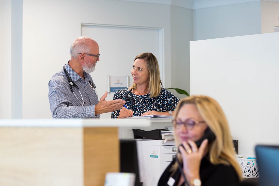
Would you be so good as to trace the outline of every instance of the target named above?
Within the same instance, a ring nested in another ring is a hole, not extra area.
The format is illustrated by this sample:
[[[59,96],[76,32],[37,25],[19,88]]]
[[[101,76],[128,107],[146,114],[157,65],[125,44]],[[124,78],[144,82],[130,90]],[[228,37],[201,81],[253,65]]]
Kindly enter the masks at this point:
[[[217,101],[208,96],[180,100],[173,125],[179,153],[158,186],[240,185],[242,172],[227,119]]]

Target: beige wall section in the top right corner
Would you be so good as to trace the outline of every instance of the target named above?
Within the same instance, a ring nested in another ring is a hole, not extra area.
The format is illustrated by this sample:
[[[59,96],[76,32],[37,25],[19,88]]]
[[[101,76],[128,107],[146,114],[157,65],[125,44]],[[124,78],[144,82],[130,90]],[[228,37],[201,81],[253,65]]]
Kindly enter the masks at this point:
[[[261,1],[261,33],[274,32],[274,26],[279,26],[279,3]]]

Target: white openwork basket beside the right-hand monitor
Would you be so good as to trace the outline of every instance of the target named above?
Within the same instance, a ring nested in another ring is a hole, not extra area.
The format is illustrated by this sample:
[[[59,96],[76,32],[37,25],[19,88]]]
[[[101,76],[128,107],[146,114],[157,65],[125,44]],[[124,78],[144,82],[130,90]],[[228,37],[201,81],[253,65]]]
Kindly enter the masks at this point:
[[[242,176],[245,178],[259,177],[259,168],[257,159],[253,156],[236,155],[236,159],[242,170]]]

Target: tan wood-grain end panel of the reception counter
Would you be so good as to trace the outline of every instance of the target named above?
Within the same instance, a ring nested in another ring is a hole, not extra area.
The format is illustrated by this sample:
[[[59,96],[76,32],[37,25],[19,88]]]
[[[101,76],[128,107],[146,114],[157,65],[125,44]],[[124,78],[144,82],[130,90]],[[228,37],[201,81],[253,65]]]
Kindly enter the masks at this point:
[[[83,128],[84,185],[104,185],[107,172],[120,171],[117,127]]]

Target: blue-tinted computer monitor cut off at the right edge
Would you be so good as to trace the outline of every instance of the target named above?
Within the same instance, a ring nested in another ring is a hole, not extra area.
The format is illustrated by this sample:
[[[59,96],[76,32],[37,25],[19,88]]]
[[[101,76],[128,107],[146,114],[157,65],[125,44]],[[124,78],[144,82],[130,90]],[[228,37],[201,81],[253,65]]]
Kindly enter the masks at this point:
[[[279,185],[279,146],[257,145],[259,186]]]

